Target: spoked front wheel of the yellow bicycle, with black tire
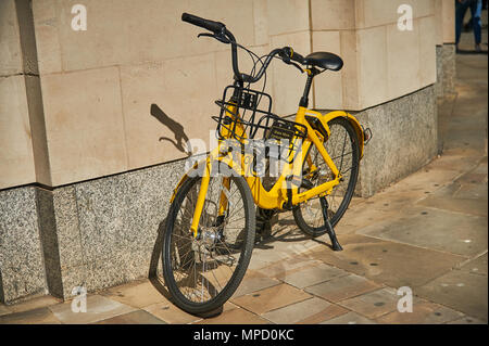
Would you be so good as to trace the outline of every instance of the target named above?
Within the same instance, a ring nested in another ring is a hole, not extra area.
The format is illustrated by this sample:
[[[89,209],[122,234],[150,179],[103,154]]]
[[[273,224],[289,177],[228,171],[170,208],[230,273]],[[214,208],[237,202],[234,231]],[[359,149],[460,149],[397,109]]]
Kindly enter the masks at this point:
[[[193,315],[221,308],[250,262],[255,232],[253,198],[244,178],[230,171],[222,163],[213,166],[197,236],[190,225],[200,177],[181,184],[166,218],[163,277],[174,303]]]

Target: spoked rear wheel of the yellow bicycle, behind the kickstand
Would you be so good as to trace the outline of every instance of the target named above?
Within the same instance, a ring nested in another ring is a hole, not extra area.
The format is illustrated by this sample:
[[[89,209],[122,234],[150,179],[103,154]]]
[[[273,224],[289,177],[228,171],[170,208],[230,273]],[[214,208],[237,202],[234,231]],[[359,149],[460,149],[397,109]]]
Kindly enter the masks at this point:
[[[335,226],[347,212],[355,190],[360,148],[356,132],[347,118],[334,118],[328,121],[328,127],[330,136],[324,146],[342,176],[340,183],[326,197],[329,206],[327,215],[330,223]],[[302,167],[302,177],[311,182],[312,187],[334,179],[329,166],[314,144],[311,145]],[[303,191],[304,188],[299,189],[299,192]],[[318,196],[299,204],[293,209],[293,218],[299,228],[309,235],[318,236],[327,232]]]

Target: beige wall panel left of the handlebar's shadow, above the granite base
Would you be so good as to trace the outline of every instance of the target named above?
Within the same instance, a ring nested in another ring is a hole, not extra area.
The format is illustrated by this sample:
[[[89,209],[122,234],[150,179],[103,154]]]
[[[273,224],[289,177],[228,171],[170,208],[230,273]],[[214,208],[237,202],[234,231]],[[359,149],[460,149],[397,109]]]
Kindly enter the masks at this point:
[[[127,169],[118,69],[41,78],[52,184]]]

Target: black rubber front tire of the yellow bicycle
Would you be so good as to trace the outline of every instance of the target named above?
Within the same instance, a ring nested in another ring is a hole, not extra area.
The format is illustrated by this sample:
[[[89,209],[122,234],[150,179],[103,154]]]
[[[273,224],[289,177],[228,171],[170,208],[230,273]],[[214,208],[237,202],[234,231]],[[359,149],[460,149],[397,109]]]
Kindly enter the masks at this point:
[[[224,164],[220,163],[217,164],[220,167],[223,167]],[[225,168],[230,170],[227,165]],[[213,168],[214,170],[215,168]],[[213,178],[211,178],[213,179]],[[251,195],[250,188],[248,187],[246,180],[243,177],[239,175],[231,175],[229,177],[230,179],[230,185],[234,183],[237,188],[236,191],[239,191],[239,194],[242,198],[242,206],[243,206],[243,214],[244,214],[244,227],[241,232],[236,236],[236,240],[241,236],[242,244],[239,249],[234,248],[233,251],[240,252],[239,260],[236,265],[236,269],[234,270],[231,278],[229,281],[225,284],[223,290],[215,294],[215,296],[212,296],[210,294],[210,298],[205,302],[193,302],[192,299],[189,299],[181,291],[180,287],[178,287],[177,280],[175,278],[175,268],[173,266],[175,265],[173,258],[172,258],[172,240],[175,238],[175,226],[177,225],[177,216],[180,207],[183,206],[184,200],[186,200],[186,196],[191,192],[192,188],[196,188],[199,185],[199,181],[201,180],[201,177],[193,177],[186,180],[181,187],[178,189],[175,198],[170,207],[168,216],[166,219],[166,226],[163,234],[163,249],[162,249],[162,264],[163,264],[163,278],[165,281],[165,285],[172,295],[172,300],[175,303],[176,306],[181,308],[183,310],[192,313],[192,315],[205,315],[215,310],[218,310],[222,308],[224,303],[230,298],[230,296],[235,293],[237,287],[239,286],[246,270],[248,268],[248,265],[250,262],[251,254],[254,246],[254,236],[255,236],[255,208],[254,208],[254,202]],[[208,191],[208,195],[211,192]],[[208,196],[206,196],[208,198]],[[206,202],[208,203],[208,200]],[[204,205],[205,208],[205,205]],[[192,212],[189,214],[192,215]],[[185,216],[185,213],[184,213]],[[191,220],[191,216],[189,217]],[[201,218],[202,222],[202,218]],[[199,228],[201,225],[199,225]],[[187,230],[189,233],[189,229]],[[244,233],[243,233],[244,232]],[[190,238],[192,238],[190,233]],[[204,239],[204,238],[202,238]],[[193,242],[193,241],[192,241]],[[196,241],[197,242],[197,241]],[[193,244],[193,243],[192,243]],[[223,243],[224,244],[224,243]],[[193,245],[191,245],[193,246]],[[222,248],[224,248],[223,246]],[[231,251],[230,246],[228,247],[229,251]],[[192,249],[193,251],[193,249]],[[209,249],[208,249],[209,251]],[[210,252],[212,254],[212,251]],[[218,255],[217,251],[215,252],[216,255]],[[186,254],[185,254],[186,255]],[[184,255],[184,256],[185,256]],[[200,253],[200,245],[199,245],[199,256]],[[189,255],[191,256],[191,255]],[[196,252],[193,252],[193,256],[196,256]],[[191,257],[188,257],[191,258]],[[197,265],[195,264],[195,268]],[[218,268],[218,267],[217,267]],[[185,269],[185,268],[184,268]],[[205,265],[204,265],[204,271],[205,271]],[[197,279],[197,274],[195,274]],[[200,279],[202,281],[208,281],[208,291],[209,291],[209,279],[203,279],[204,275],[202,275]],[[215,278],[215,274],[214,274]],[[184,279],[185,280],[185,279]],[[213,283],[211,283],[212,285]]]

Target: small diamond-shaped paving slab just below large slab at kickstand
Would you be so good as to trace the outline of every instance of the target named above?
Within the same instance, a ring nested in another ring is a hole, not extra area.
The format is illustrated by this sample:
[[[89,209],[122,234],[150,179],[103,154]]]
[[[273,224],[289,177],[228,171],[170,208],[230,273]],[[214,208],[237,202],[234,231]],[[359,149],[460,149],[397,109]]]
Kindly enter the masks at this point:
[[[349,274],[309,286],[305,289],[305,292],[325,298],[329,302],[339,302],[378,289],[380,289],[380,285],[373,281],[355,274]]]

